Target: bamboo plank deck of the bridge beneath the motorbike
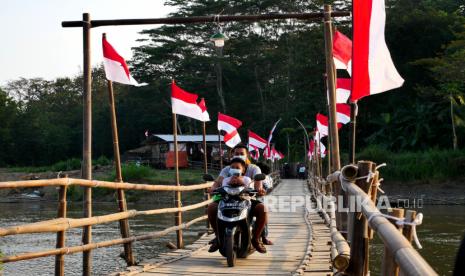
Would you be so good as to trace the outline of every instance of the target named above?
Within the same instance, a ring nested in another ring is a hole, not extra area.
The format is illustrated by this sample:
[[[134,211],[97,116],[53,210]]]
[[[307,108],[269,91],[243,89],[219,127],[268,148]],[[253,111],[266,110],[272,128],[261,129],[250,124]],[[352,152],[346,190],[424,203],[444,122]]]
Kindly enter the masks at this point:
[[[306,195],[305,181],[283,180],[274,196]],[[161,254],[156,259],[128,268],[117,275],[332,275],[329,229],[317,213],[299,207],[295,212],[269,213],[267,253],[253,253],[228,267],[219,252],[208,253],[204,235],[186,249]]]

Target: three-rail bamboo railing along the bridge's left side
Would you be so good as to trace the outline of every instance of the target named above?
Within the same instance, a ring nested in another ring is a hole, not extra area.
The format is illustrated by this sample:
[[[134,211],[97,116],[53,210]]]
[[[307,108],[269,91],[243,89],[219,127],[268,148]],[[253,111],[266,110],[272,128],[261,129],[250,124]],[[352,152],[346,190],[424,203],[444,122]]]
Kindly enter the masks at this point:
[[[181,214],[190,210],[198,209],[207,206],[212,200],[205,200],[196,204],[188,206],[179,206],[173,208],[162,208],[153,210],[127,210],[118,213],[112,213],[102,216],[92,216],[84,218],[67,218],[67,202],[66,193],[69,186],[80,186],[85,188],[107,188],[114,190],[137,190],[137,191],[149,191],[149,192],[160,192],[160,191],[174,191],[181,194],[181,192],[203,190],[211,187],[213,182],[207,182],[198,185],[190,186],[170,186],[170,185],[151,185],[151,184],[133,184],[125,182],[109,182],[109,181],[98,181],[98,180],[86,180],[86,179],[74,179],[74,178],[57,178],[57,179],[45,179],[45,180],[26,180],[26,181],[8,181],[0,182],[0,189],[18,189],[18,188],[37,188],[37,187],[59,187],[59,204],[58,204],[58,216],[56,219],[44,220],[35,223],[17,225],[13,227],[0,228],[0,237],[8,235],[20,235],[20,234],[31,234],[31,233],[57,233],[56,249],[50,249],[39,252],[27,252],[14,256],[2,256],[0,257],[1,263],[16,262],[22,260],[29,260],[35,258],[42,258],[47,256],[56,256],[55,259],[55,275],[64,275],[64,255],[78,253],[78,252],[90,252],[93,249],[109,247],[115,245],[129,245],[135,241],[148,240],[158,238],[167,235],[171,232],[176,231],[180,233],[182,238],[182,230],[188,228],[194,223],[204,221],[207,219],[206,215],[197,217],[189,222],[179,223],[172,227],[168,227],[162,231],[147,233],[138,236],[122,236],[119,239],[101,241],[96,243],[85,243],[79,246],[66,247],[65,246],[65,234],[66,231],[72,228],[79,227],[91,227],[97,224],[105,224],[115,221],[123,221],[136,216],[148,216],[148,215],[160,215],[160,214]],[[180,215],[179,215],[180,216]],[[132,252],[132,249],[131,249]],[[129,264],[128,264],[129,265]],[[85,266],[85,264],[84,264]],[[85,269],[85,267],[83,267]]]

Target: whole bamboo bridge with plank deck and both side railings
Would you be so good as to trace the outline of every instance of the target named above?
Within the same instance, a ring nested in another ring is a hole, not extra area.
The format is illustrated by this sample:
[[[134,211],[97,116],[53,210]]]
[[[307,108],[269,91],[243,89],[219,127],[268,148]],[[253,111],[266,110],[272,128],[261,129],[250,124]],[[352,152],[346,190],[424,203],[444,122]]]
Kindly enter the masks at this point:
[[[391,216],[382,214],[375,206],[376,191],[379,185],[379,172],[372,162],[361,161],[358,165],[345,166],[341,171],[329,175],[327,179],[319,177],[315,170],[309,180],[279,180],[279,174],[273,173],[275,181],[281,183],[270,196],[277,198],[280,206],[287,209],[269,212],[270,239],[275,243],[267,246],[266,254],[253,253],[246,259],[239,259],[235,267],[227,267],[224,257],[219,253],[208,253],[207,233],[191,245],[182,243],[182,230],[194,223],[206,220],[200,216],[188,222],[169,227],[163,231],[138,236],[126,236],[109,241],[90,242],[79,246],[67,247],[66,231],[71,228],[85,228],[93,225],[120,221],[128,223],[135,216],[155,216],[173,213],[182,217],[183,212],[205,207],[211,202],[205,201],[183,206],[155,210],[128,210],[114,214],[89,218],[67,218],[66,191],[72,185],[84,188],[107,188],[119,190],[174,191],[177,193],[202,190],[212,183],[191,186],[148,185],[57,178],[47,180],[1,182],[0,189],[30,187],[59,187],[58,218],[38,221],[31,224],[0,227],[0,238],[7,235],[27,233],[57,233],[56,248],[40,252],[20,253],[14,256],[0,257],[0,263],[25,261],[55,256],[55,275],[65,274],[65,256],[79,252],[90,252],[102,247],[121,246],[125,249],[128,269],[113,275],[368,275],[369,244],[373,234],[382,239],[385,249],[382,262],[383,275],[437,275],[429,264],[411,245],[414,225],[405,223],[402,227],[393,217],[402,221],[414,221],[415,213],[393,210]],[[341,193],[357,195],[364,200],[357,203],[360,212],[335,212],[335,202],[331,195]],[[295,205],[293,197],[308,196],[307,204]],[[323,200],[321,200],[323,198]],[[323,208],[327,200],[329,208]],[[293,205],[294,204],[294,205]],[[271,207],[271,206],[270,206]],[[290,209],[289,209],[290,208]],[[120,223],[120,226],[123,223]],[[128,223],[128,225],[130,225]],[[207,229],[206,229],[207,230]],[[135,265],[132,251],[137,250],[137,241],[156,239],[173,231],[177,232],[178,249],[153,256],[153,259]],[[117,260],[115,260],[117,261]],[[94,260],[98,266],[98,260]],[[84,262],[85,264],[85,262]],[[83,267],[84,271],[84,267]]]

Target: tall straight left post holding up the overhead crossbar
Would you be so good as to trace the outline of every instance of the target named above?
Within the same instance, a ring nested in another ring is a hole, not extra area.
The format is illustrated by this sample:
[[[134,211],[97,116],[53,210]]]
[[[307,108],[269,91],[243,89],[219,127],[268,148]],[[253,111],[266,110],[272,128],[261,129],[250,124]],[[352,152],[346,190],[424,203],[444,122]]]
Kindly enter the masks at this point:
[[[83,33],[83,57],[84,57],[84,111],[83,111],[83,143],[82,143],[82,178],[92,179],[92,68],[90,54],[90,15],[82,14]],[[92,217],[92,188],[84,188],[84,217]],[[92,241],[92,227],[84,226],[82,231],[82,243]],[[90,275],[92,270],[91,250],[83,252],[82,274]]]

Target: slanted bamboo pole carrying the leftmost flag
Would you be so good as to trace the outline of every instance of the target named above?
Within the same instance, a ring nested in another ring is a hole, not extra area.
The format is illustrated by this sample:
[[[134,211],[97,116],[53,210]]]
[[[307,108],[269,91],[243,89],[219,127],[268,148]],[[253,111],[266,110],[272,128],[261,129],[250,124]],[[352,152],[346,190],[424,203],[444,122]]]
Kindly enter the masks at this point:
[[[102,34],[105,37],[105,34]],[[123,182],[123,173],[121,171],[121,157],[119,152],[119,138],[118,138],[118,124],[116,122],[116,107],[115,107],[115,94],[113,92],[112,81],[107,81],[108,85],[108,100],[110,103],[110,116],[111,116],[111,134],[113,136],[113,154],[115,158],[115,171],[116,171],[116,182]],[[126,196],[124,190],[117,189],[116,194],[118,196],[118,209],[120,212],[127,211]],[[121,237],[128,238],[129,235],[129,222],[128,219],[122,219],[119,221],[119,227]],[[124,258],[128,266],[135,265],[134,255],[132,253],[132,243],[124,244]]]

